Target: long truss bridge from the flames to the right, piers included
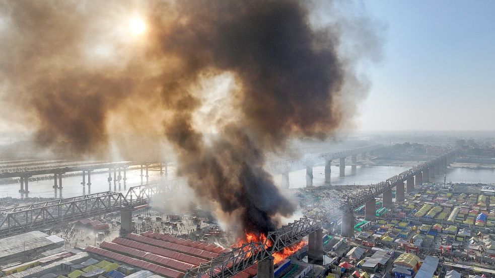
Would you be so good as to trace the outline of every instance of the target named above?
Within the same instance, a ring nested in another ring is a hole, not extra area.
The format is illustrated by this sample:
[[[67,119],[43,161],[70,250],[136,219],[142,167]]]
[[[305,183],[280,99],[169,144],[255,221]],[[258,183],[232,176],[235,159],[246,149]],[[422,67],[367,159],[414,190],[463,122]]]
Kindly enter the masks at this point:
[[[258,272],[273,271],[273,268],[266,267],[266,263],[271,262],[272,253],[280,251],[285,247],[300,241],[306,236],[309,236],[308,259],[320,260],[321,257],[322,260],[322,227],[334,220],[342,218],[342,234],[351,236],[354,228],[353,221],[355,220],[355,217],[353,216],[353,213],[355,209],[363,204],[368,206],[373,203],[374,206],[375,198],[380,195],[383,195],[384,203],[388,202],[389,200],[385,201],[385,199],[391,199],[391,194],[389,195],[389,192],[393,188],[397,188],[396,192],[398,192],[399,195],[399,199],[396,198],[396,202],[402,202],[404,181],[408,183],[408,191],[412,191],[413,187],[411,188],[409,186],[409,181],[411,179],[411,184],[421,184],[423,176],[430,178],[434,176],[435,173],[440,174],[445,171],[447,165],[452,163],[454,159],[455,151],[450,151],[433,160],[421,163],[398,175],[390,177],[386,181],[378,184],[371,184],[369,189],[359,191],[347,201],[335,202],[321,212],[316,213],[313,217],[305,216],[300,220],[282,226],[280,229],[269,232],[264,242],[246,243],[239,248],[234,248],[230,252],[223,253],[217,258],[201,263],[198,267],[189,269],[184,277],[204,278],[209,276],[226,278],[239,273],[245,268],[252,266],[254,263],[258,263]],[[402,193],[400,193],[400,188],[402,188]],[[392,202],[392,200],[390,200],[390,202]],[[258,273],[258,275],[260,274],[263,277],[273,277],[273,273]]]

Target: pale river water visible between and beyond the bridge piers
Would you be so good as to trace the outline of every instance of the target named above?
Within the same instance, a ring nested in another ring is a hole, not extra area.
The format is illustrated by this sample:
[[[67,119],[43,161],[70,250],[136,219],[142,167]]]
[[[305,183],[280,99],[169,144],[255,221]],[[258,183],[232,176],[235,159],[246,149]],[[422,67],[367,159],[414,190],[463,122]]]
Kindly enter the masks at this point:
[[[331,167],[330,183],[335,185],[343,184],[370,184],[384,181],[387,178],[407,170],[408,167],[400,166],[358,166],[352,169],[351,166],[345,167],[345,177],[339,177],[338,166]],[[321,186],[325,183],[325,167],[315,166],[313,168],[313,185]],[[160,174],[158,169],[150,169],[148,182],[159,182],[161,180],[175,179],[175,167],[168,168],[168,174]],[[107,181],[108,172],[92,173],[91,187],[81,185],[82,176],[68,176],[62,179],[62,190],[53,189],[53,179],[30,181],[29,197],[44,198],[68,198],[91,193],[113,191],[125,193],[132,186],[142,184],[139,169],[128,170],[126,173],[127,180],[124,183],[111,182],[110,186]],[[112,173],[113,178],[113,173]],[[442,182],[443,176],[437,175],[435,181]],[[275,175],[274,181],[281,184],[281,176]],[[467,182],[467,183],[494,183],[495,169],[471,169],[471,168],[452,168],[448,169],[446,174],[447,182]],[[146,184],[146,177],[143,177],[143,183]],[[290,188],[301,188],[306,186],[306,169],[297,170],[289,173]],[[20,184],[2,184],[0,185],[0,197],[25,197],[19,193]]]

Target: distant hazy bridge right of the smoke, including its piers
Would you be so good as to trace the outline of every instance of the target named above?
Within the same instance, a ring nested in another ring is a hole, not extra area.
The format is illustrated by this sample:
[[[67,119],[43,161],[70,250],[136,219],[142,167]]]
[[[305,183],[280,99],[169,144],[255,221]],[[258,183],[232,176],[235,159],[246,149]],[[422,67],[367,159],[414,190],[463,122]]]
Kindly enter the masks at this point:
[[[362,155],[363,159],[366,159],[366,154],[369,152],[373,152],[379,149],[382,149],[384,146],[373,145],[373,146],[365,146],[354,149],[340,150],[335,152],[327,152],[320,153],[308,157],[277,161],[268,164],[266,169],[268,171],[274,173],[282,174],[284,180],[284,187],[289,188],[289,172],[299,169],[306,168],[306,186],[313,186],[313,166],[321,163],[325,163],[325,181],[330,182],[330,174],[331,174],[331,163],[332,160],[338,159],[339,165],[339,175],[341,177],[345,176],[345,158],[350,157],[350,163],[353,169],[355,169],[356,165],[358,165],[358,155]]]

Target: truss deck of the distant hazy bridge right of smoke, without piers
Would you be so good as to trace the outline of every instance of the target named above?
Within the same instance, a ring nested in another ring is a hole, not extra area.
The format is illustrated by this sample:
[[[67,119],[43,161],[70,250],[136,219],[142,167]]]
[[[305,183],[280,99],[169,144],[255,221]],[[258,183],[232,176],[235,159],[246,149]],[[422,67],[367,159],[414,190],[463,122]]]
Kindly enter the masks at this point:
[[[290,171],[294,169],[304,168],[310,165],[323,163],[325,161],[329,161],[333,159],[345,158],[349,156],[358,155],[361,153],[372,152],[382,148],[384,148],[384,146],[379,144],[379,145],[366,146],[355,149],[341,150],[336,152],[321,153],[304,158],[272,162],[269,165],[267,165],[266,169],[274,172]]]

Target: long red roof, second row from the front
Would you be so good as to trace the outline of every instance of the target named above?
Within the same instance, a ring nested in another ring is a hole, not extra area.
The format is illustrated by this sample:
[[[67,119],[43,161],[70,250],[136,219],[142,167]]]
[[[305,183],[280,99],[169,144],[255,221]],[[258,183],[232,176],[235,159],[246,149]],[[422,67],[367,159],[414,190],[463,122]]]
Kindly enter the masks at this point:
[[[107,250],[110,250],[110,251],[115,251],[115,252],[118,252],[121,254],[122,253],[128,254],[131,257],[134,257],[137,259],[143,259],[143,260],[146,260],[146,261],[149,261],[152,263],[156,263],[158,265],[162,265],[162,266],[165,266],[165,267],[168,267],[171,269],[175,269],[177,271],[184,272],[184,273],[187,271],[187,269],[194,267],[194,265],[190,264],[190,263],[185,263],[182,261],[178,261],[175,259],[160,256],[157,254],[145,252],[142,250],[137,250],[137,249],[123,246],[123,245],[119,245],[119,244],[113,243],[113,242],[103,241],[102,243],[100,243],[100,247],[107,249]]]

